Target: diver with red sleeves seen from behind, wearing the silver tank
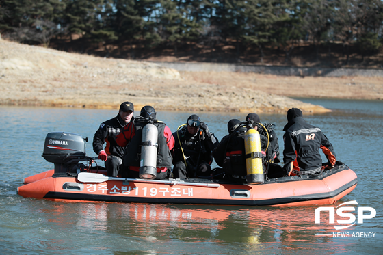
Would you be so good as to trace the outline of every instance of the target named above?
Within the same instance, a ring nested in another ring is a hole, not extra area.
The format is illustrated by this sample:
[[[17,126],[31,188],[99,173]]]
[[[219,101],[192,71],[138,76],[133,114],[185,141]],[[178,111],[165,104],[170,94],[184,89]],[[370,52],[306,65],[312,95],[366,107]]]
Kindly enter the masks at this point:
[[[142,162],[145,161],[142,155],[142,148],[157,148],[155,155],[148,155],[151,159],[155,160],[153,167],[157,168],[157,173],[154,173],[156,180],[168,178],[168,170],[172,167],[172,156],[170,150],[174,146],[174,138],[172,131],[165,123],[156,119],[156,111],[150,106],[142,107],[140,117],[136,117],[133,122],[124,126],[124,129],[116,137],[116,142],[119,146],[127,146],[124,154],[124,166],[129,167],[127,173],[122,173],[123,177],[139,178],[140,169],[143,166]],[[157,128],[155,132],[155,139],[157,141],[144,141],[142,137],[146,136],[145,127],[151,124]],[[157,156],[157,159],[155,157]],[[148,159],[150,160],[150,159]],[[140,163],[141,162],[141,163]],[[142,176],[141,176],[142,177]]]

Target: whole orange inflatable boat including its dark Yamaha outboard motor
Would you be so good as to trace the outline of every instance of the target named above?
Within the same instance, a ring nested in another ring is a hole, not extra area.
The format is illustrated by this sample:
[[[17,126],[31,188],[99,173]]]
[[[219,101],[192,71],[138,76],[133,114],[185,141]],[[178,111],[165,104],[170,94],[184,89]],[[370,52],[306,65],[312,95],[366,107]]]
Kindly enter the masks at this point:
[[[108,177],[101,167],[90,167],[92,159],[85,156],[85,142],[80,136],[82,144],[77,136],[72,133],[47,135],[42,156],[55,163],[55,169],[25,178],[24,185],[18,187],[20,196],[72,202],[302,206],[334,204],[350,193],[358,180],[355,172],[341,162],[337,162],[330,170],[323,170],[317,176],[267,179],[259,185],[239,185],[225,180],[207,179],[146,180]],[[60,142],[60,139],[65,141]],[[81,145],[75,148],[73,144]],[[84,165],[79,163],[81,161],[90,163]]]

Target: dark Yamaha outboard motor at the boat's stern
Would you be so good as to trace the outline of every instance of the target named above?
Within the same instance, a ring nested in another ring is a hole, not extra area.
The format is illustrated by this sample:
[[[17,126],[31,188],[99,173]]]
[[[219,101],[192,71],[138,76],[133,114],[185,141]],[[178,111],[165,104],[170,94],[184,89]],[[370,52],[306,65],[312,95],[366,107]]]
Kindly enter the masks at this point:
[[[55,164],[55,173],[83,172],[85,165],[79,161],[86,161],[85,142],[88,137],[68,132],[48,133],[45,138],[42,157]]]

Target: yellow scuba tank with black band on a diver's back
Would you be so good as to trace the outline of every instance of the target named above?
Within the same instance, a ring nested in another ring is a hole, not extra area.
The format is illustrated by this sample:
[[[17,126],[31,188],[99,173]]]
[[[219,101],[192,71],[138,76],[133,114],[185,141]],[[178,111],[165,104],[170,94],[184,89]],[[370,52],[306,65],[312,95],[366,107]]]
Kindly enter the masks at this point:
[[[265,176],[262,168],[261,137],[253,128],[245,133],[246,170],[248,184],[264,183]]]

